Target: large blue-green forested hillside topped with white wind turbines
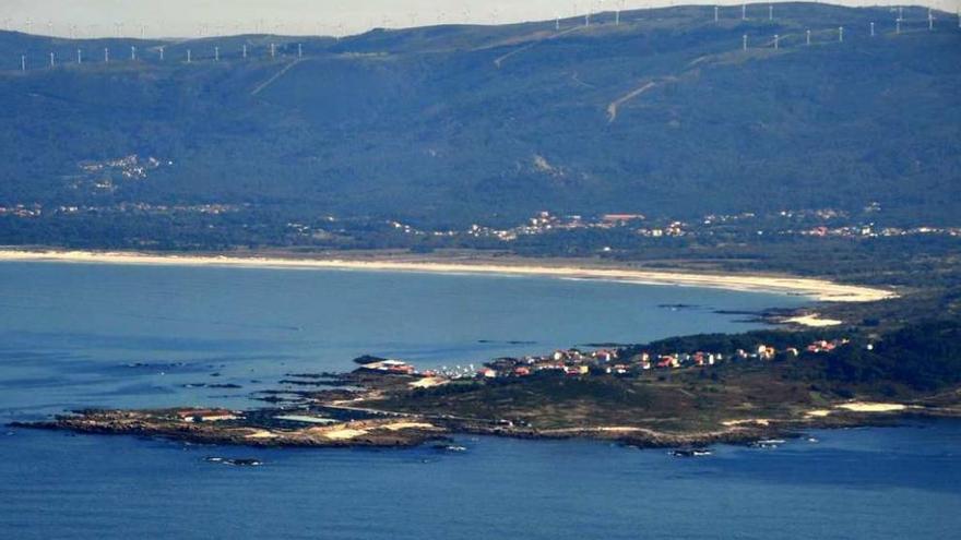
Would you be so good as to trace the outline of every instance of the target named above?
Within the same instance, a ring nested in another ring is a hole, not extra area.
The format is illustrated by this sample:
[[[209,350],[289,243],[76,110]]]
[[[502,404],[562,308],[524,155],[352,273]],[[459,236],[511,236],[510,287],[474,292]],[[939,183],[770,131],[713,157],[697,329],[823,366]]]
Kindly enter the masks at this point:
[[[937,13],[929,31],[927,13],[905,9],[900,33],[888,8],[815,3],[340,41],[0,33],[0,205],[249,204],[439,228],[877,202],[957,225],[961,29]]]

